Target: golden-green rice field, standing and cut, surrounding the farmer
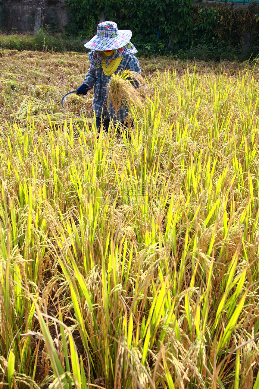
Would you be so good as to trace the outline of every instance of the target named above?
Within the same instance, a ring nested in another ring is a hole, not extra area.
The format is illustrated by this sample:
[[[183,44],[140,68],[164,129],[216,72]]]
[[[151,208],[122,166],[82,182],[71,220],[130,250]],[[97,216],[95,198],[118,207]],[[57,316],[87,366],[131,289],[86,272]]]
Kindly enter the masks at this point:
[[[259,66],[0,51],[0,389],[259,388]]]

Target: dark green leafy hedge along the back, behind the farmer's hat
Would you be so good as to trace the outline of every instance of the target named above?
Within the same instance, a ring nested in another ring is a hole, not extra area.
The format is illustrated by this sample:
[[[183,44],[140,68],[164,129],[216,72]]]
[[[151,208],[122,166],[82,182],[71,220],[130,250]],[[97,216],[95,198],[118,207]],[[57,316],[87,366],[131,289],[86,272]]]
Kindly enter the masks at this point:
[[[256,2],[243,9],[222,3],[193,7],[192,0],[70,0],[68,6],[67,33],[91,38],[103,10],[106,20],[116,21],[119,29],[132,31],[132,43],[145,56],[170,53],[204,60],[231,60],[259,54]],[[251,42],[247,54],[243,54],[243,35],[248,30],[252,32]],[[169,39],[173,42],[170,50]]]

